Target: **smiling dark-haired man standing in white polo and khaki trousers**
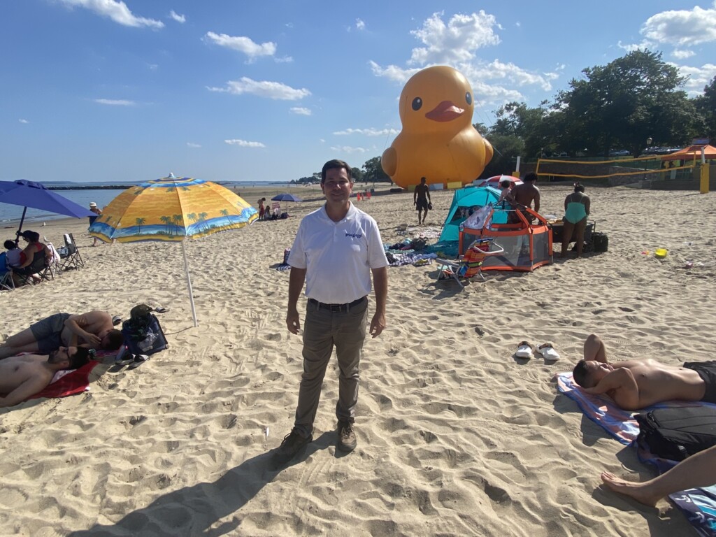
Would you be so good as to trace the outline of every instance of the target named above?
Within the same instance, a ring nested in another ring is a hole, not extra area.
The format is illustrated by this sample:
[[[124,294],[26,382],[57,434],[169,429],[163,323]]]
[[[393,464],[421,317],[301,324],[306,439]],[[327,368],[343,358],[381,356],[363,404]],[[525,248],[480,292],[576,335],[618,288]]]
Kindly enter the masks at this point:
[[[337,449],[356,447],[353,430],[358,402],[359,362],[368,319],[371,273],[375,286],[375,314],[370,333],[385,328],[388,294],[388,261],[374,219],[350,202],[351,168],[342,160],[329,160],[321,170],[321,190],[326,203],[306,215],[299,225],[289,255],[289,306],[286,325],[299,334],[301,321],[296,302],[306,283],[304,323],[304,373],[294,428],[274,451],[274,464],[294,458],[311,440],[326,366],[336,348],[339,367]]]

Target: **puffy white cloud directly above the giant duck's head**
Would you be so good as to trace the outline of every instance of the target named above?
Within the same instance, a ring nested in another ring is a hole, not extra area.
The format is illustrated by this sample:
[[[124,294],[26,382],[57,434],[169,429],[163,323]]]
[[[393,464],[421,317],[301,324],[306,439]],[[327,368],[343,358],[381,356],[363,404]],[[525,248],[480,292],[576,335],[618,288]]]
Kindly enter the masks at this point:
[[[441,17],[442,14],[435,13],[422,24],[422,29],[410,32],[426,46],[412,49],[409,65],[469,62],[475,57],[475,50],[500,42],[494,32],[495,27],[500,28],[495,16],[483,10],[470,15],[455,14],[448,24]]]

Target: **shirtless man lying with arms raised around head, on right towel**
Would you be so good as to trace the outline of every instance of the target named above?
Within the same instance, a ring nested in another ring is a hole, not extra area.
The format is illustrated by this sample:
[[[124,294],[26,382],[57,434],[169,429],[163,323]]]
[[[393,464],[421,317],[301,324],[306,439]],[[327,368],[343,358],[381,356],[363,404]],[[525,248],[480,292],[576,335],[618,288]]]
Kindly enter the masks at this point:
[[[585,392],[609,395],[624,410],[671,400],[716,403],[716,362],[687,362],[683,367],[653,359],[610,364],[604,343],[594,334],[584,342],[584,359],[572,374]]]

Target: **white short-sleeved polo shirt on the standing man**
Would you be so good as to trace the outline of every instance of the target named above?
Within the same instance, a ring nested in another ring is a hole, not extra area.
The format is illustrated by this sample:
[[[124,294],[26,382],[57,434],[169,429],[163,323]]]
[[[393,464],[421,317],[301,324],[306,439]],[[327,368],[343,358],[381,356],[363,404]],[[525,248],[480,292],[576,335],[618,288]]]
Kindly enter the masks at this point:
[[[324,304],[347,304],[370,293],[371,269],[388,266],[380,231],[372,216],[351,203],[334,222],[326,205],[299,225],[289,265],[306,269],[306,296]]]

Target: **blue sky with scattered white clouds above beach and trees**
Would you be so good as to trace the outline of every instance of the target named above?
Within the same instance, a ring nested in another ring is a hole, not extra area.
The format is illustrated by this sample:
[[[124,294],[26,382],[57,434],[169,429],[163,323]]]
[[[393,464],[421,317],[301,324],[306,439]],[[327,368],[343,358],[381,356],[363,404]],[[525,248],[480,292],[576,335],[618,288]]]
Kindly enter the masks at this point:
[[[488,125],[636,47],[697,95],[716,1],[6,0],[0,47],[0,180],[288,181],[381,155],[433,64]]]

